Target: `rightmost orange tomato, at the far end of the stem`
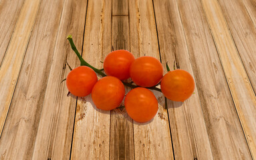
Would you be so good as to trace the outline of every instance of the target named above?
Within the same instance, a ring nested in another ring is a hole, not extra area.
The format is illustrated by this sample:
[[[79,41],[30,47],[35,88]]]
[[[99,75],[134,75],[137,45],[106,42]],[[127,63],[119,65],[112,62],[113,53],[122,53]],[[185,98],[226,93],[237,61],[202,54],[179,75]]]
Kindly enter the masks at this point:
[[[161,90],[166,98],[184,102],[193,94],[195,81],[187,71],[176,69],[164,75],[161,81]]]

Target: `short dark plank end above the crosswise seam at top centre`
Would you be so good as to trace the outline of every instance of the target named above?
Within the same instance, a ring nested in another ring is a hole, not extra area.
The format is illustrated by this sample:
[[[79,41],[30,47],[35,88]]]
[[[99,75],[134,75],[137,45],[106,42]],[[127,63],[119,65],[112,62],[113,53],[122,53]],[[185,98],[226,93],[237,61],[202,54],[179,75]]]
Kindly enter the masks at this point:
[[[112,0],[112,15],[128,16],[128,0]]]

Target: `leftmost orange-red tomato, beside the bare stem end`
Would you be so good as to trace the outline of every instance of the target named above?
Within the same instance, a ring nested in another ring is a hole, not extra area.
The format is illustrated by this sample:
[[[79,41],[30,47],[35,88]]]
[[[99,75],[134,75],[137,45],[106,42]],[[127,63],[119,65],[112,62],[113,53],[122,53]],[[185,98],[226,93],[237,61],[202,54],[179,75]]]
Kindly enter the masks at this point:
[[[68,91],[78,97],[84,97],[92,92],[92,87],[98,81],[94,70],[90,67],[76,67],[67,76],[66,85]]]

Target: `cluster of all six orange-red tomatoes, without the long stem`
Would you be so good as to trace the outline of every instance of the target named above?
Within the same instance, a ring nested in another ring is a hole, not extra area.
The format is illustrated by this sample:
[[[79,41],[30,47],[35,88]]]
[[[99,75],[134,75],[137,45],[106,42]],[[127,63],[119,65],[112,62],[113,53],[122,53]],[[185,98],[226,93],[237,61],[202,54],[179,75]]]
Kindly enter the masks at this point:
[[[127,93],[124,107],[134,121],[141,123],[150,121],[158,111],[158,101],[148,87],[160,83],[162,93],[172,101],[188,99],[195,89],[194,79],[188,72],[176,69],[163,75],[163,67],[158,59],[149,56],[135,59],[126,50],[109,53],[104,59],[104,71],[107,76],[98,80],[90,67],[73,69],[66,79],[68,90],[78,97],[92,93],[96,107],[112,110],[119,107],[124,99],[122,80],[131,78],[138,87]]]

